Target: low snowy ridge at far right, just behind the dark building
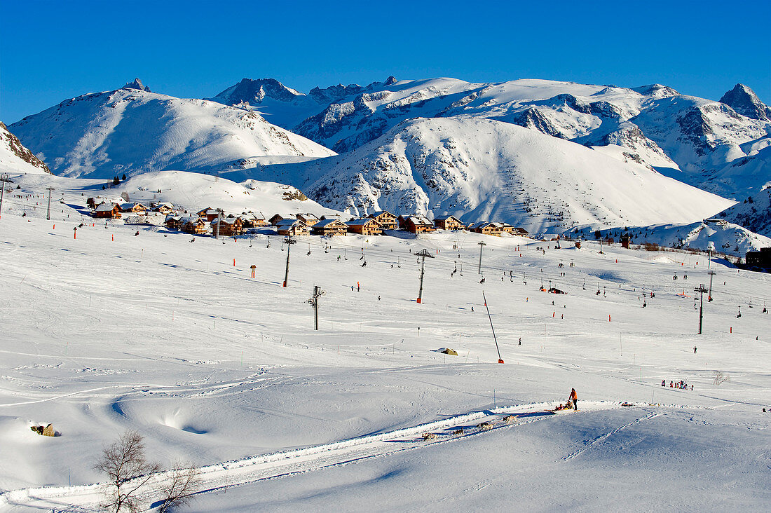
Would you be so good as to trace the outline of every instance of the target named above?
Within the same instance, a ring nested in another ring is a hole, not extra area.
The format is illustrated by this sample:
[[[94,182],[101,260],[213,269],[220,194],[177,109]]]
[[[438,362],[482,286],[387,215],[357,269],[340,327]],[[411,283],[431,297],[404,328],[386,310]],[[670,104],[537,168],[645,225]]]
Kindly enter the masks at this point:
[[[690,224],[653,224],[651,226],[626,226],[598,230],[602,238],[611,237],[618,242],[622,236],[631,238],[632,244],[646,243],[665,248],[698,249],[714,251],[744,258],[747,251],[771,248],[771,238],[749,231],[739,224],[723,219],[708,219]],[[570,237],[594,239],[597,231],[592,227],[566,231]]]

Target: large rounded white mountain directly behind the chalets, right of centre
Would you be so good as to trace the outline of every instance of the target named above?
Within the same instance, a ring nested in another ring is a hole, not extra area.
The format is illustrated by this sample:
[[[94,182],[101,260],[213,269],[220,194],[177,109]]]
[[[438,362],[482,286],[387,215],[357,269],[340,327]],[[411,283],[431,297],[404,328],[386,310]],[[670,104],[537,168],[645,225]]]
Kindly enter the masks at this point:
[[[692,222],[733,204],[635,160],[470,117],[405,121],[348,154],[258,167],[254,177],[353,214],[453,214],[530,231]]]

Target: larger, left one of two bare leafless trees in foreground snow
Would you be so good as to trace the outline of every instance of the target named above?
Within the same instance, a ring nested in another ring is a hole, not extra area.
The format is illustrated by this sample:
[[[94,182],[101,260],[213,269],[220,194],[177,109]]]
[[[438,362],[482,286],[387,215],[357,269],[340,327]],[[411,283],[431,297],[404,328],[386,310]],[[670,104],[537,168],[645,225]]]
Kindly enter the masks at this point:
[[[106,508],[112,511],[140,511],[137,491],[160,470],[160,465],[147,461],[142,435],[126,431],[102,451],[94,469],[109,477]]]

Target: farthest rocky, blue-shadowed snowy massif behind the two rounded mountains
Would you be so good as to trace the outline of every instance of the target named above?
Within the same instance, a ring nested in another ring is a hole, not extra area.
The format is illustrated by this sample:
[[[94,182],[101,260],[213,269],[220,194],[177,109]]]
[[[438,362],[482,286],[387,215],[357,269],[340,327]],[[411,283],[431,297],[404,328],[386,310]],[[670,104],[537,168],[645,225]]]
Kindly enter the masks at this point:
[[[608,153],[630,154],[634,157],[624,158],[727,197],[746,197],[771,181],[765,164],[749,176],[729,170],[771,143],[771,110],[742,84],[715,102],[660,84],[628,89],[534,79],[466,83],[389,77],[365,87],[316,88],[303,95],[275,80],[244,79],[216,100],[248,102],[274,123],[339,153],[375,140],[404,120],[473,116],[586,146],[624,147],[624,152]],[[307,117],[298,121],[302,116]]]

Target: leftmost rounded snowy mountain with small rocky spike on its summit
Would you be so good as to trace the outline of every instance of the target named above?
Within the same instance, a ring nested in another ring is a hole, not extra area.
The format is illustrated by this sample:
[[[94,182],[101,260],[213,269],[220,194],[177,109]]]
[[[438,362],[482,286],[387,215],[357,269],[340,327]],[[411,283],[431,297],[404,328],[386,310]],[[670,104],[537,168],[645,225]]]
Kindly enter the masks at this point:
[[[69,177],[208,171],[246,157],[334,154],[257,113],[151,93],[138,79],[66,100],[11,129],[55,174]]]

